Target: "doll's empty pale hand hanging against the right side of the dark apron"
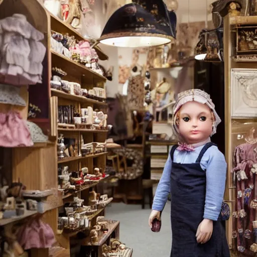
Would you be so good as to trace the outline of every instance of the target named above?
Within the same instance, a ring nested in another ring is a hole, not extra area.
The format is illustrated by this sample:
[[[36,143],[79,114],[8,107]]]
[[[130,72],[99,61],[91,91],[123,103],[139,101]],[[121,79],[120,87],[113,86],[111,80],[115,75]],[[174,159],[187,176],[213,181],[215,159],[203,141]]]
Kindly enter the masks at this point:
[[[213,231],[213,221],[210,219],[203,219],[196,231],[196,240],[198,243],[206,243],[210,240]]]

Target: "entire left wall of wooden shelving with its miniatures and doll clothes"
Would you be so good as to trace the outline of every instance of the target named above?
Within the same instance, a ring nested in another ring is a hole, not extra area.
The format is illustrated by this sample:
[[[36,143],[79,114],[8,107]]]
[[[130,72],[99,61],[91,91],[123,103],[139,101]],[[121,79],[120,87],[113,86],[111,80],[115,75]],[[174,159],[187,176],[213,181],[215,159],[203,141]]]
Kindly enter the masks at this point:
[[[98,187],[110,177],[107,55],[37,0],[0,5],[0,255],[132,256]]]

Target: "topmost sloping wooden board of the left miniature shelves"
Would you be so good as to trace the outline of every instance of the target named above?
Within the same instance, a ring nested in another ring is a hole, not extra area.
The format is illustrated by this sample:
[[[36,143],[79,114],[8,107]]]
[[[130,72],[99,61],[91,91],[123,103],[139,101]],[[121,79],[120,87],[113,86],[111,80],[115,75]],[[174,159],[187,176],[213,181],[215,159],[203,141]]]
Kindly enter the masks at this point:
[[[69,24],[63,22],[58,17],[55,17],[50,12],[48,12],[48,13],[51,16],[51,29],[53,31],[59,32],[61,34],[68,33],[69,35],[74,36],[77,40],[88,41],[81,34],[79,34],[77,31],[75,31]],[[95,49],[100,60],[102,60],[102,61],[108,60],[108,56],[98,46],[95,46],[93,48]]]

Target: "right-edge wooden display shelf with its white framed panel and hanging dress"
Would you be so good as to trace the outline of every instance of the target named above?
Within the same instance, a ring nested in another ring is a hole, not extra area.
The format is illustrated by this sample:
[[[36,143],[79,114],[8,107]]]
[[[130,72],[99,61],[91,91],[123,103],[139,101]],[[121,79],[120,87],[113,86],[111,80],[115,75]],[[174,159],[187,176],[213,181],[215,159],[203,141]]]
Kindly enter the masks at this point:
[[[232,210],[227,238],[236,256],[257,252],[256,29],[256,16],[227,15],[224,19],[225,200]]]

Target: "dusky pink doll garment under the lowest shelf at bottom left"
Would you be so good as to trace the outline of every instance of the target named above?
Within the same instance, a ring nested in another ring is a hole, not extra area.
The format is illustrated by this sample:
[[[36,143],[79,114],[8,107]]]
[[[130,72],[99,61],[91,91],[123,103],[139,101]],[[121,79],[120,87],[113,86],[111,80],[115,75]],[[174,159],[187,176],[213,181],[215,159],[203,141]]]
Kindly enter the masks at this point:
[[[17,240],[27,250],[31,248],[50,248],[55,243],[52,228],[41,219],[34,219],[21,227]]]

